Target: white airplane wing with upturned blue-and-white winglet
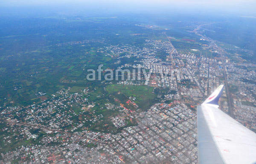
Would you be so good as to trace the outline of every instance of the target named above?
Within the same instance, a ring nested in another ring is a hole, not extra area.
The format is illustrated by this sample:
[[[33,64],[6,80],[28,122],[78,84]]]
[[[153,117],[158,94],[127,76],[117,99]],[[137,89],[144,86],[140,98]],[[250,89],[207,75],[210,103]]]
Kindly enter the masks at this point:
[[[197,107],[199,164],[256,164],[256,133],[218,109],[223,88]]]

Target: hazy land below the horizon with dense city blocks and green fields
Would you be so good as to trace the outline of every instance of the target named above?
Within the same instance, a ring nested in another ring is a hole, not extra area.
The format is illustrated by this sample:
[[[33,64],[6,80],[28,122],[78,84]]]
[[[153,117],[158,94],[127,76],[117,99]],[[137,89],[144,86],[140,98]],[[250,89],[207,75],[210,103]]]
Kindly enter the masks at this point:
[[[1,13],[0,164],[198,164],[219,85],[256,132],[255,17],[191,18]]]

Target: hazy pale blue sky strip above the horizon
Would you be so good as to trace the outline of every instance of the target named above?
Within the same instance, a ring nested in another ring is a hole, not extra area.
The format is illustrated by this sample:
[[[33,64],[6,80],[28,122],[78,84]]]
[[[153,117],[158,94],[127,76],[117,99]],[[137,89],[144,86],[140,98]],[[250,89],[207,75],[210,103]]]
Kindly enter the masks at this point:
[[[226,13],[256,17],[256,0],[0,0],[0,8],[15,12]],[[1,14],[1,12],[0,12]]]

